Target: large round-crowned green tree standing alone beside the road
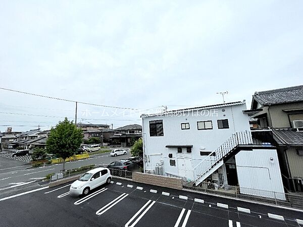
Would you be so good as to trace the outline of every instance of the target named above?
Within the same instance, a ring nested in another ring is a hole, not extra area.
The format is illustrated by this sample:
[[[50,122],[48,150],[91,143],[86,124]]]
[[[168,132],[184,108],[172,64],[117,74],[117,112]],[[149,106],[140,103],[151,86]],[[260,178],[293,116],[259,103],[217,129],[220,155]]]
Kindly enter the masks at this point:
[[[72,156],[80,147],[83,138],[82,129],[78,129],[73,121],[67,118],[59,122],[55,128],[51,129],[46,140],[46,149],[48,153],[55,154],[63,158],[63,170],[65,170],[65,159]]]

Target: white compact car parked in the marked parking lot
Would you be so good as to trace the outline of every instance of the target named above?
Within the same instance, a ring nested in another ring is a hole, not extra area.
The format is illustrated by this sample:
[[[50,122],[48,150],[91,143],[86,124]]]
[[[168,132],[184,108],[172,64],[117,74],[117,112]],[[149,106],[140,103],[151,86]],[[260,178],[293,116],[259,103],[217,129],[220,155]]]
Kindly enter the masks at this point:
[[[70,195],[87,195],[90,190],[111,183],[112,175],[108,168],[94,168],[83,174],[79,180],[75,181],[70,187]]]

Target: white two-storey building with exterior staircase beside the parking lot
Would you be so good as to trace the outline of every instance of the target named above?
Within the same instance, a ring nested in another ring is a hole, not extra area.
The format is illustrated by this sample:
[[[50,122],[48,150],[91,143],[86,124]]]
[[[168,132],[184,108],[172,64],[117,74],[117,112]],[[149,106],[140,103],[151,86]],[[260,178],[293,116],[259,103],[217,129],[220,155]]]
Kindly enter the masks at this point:
[[[252,140],[245,100],[142,115],[144,172],[285,199],[277,151]]]

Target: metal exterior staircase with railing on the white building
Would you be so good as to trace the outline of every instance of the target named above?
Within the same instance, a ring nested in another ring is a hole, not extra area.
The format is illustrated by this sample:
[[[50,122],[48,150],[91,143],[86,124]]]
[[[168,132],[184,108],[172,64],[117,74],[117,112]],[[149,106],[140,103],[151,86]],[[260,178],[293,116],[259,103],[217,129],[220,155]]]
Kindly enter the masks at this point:
[[[239,149],[240,145],[243,145],[242,147],[252,147],[252,145],[255,144],[254,141],[250,131],[234,133],[227,141],[193,168],[193,176],[195,178],[193,185],[197,186],[203,182],[222,166],[226,160],[236,155],[241,150]]]

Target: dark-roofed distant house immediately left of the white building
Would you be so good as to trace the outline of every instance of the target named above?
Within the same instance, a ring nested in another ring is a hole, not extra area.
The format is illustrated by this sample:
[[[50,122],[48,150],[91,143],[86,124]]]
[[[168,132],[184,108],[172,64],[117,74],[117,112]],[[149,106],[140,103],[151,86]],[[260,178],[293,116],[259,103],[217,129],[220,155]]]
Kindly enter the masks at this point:
[[[142,137],[142,126],[137,124],[126,125],[115,129],[115,131],[118,133],[110,137],[112,144],[117,144],[122,147],[131,146],[135,140]]]

